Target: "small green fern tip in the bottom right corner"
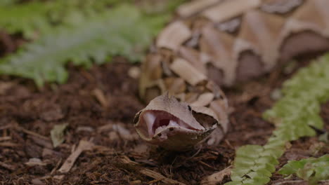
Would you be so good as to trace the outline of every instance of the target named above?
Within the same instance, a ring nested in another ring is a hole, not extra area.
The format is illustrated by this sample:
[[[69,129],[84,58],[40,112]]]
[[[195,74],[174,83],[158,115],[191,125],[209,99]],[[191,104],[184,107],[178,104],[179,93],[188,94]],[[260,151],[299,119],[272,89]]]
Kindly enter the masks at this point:
[[[329,154],[320,158],[305,158],[290,160],[278,170],[279,174],[296,174],[297,177],[316,184],[318,181],[329,179]]]

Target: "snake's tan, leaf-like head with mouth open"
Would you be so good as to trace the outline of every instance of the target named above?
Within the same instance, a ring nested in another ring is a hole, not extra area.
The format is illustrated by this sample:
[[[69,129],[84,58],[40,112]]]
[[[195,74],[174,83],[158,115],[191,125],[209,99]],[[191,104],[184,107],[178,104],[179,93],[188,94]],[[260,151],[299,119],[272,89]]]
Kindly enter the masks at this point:
[[[134,124],[138,135],[165,149],[191,149],[217,128],[217,116],[207,107],[192,107],[168,93],[155,97],[139,111]]]

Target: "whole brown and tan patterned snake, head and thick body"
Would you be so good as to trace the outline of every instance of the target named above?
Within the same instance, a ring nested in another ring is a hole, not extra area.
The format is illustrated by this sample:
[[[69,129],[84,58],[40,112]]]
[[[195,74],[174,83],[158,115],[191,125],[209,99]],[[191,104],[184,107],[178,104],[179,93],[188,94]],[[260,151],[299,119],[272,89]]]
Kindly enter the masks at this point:
[[[188,149],[213,130],[208,144],[219,142],[228,131],[228,103],[219,85],[329,50],[328,7],[328,0],[198,0],[180,6],[179,18],[162,30],[142,66],[141,98],[156,98],[136,114],[138,134],[174,150]]]

